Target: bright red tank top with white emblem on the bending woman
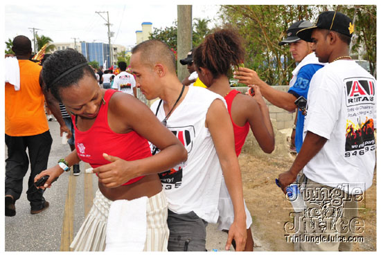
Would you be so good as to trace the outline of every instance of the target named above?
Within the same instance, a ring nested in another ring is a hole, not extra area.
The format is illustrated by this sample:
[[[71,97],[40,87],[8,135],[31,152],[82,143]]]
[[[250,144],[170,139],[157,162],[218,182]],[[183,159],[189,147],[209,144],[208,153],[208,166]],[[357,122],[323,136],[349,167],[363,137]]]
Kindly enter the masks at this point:
[[[72,116],[76,134],[76,149],[79,158],[96,168],[110,163],[103,158],[103,153],[117,156],[127,161],[134,161],[152,156],[148,140],[130,131],[128,134],[117,134],[108,125],[107,110],[109,100],[116,91],[108,89],[105,93],[105,104],[100,105],[98,116],[94,124],[87,131],[79,131],[76,127],[76,118]],[[127,181],[128,185],[139,181],[143,176]]]

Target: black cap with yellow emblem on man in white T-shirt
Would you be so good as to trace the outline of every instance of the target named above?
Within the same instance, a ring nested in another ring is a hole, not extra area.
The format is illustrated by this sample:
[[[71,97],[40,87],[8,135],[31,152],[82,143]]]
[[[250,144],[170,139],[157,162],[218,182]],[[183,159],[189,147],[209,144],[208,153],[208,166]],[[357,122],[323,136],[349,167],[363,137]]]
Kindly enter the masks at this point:
[[[336,31],[348,37],[352,37],[353,31],[355,30],[355,26],[350,17],[342,14],[342,12],[327,11],[321,12],[314,26],[299,30],[296,35],[307,42],[312,42],[311,35],[312,29],[314,28]]]

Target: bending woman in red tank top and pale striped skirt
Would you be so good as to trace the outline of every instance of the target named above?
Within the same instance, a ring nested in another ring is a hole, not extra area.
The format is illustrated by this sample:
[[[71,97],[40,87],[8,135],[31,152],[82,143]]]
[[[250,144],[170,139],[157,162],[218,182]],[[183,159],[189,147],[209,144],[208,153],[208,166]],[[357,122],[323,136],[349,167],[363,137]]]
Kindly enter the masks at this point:
[[[145,250],[166,250],[166,199],[157,173],[186,161],[184,146],[145,104],[126,93],[100,89],[87,60],[77,51],[53,53],[44,63],[42,77],[46,89],[73,115],[76,150],[59,165],[36,176],[35,181],[49,175],[41,188],[50,188],[53,179],[66,169],[65,165],[71,166],[80,160],[90,163],[98,175],[100,192],[97,192],[94,205],[98,202],[100,205],[90,210],[86,224],[80,228],[71,247],[75,250],[104,250],[105,231],[89,234],[88,230],[98,229],[88,223],[96,222],[96,225],[105,227],[104,219],[107,219],[109,210],[105,205],[109,207],[112,201],[147,196],[148,202],[154,200],[154,203],[147,204],[147,228],[157,231],[147,231]],[[159,154],[152,156],[148,141],[159,147]],[[158,209],[157,205],[162,207]],[[161,212],[160,216],[157,212]],[[161,226],[154,226],[155,221]],[[149,237],[151,233],[156,237]],[[150,247],[151,240],[163,244]]]

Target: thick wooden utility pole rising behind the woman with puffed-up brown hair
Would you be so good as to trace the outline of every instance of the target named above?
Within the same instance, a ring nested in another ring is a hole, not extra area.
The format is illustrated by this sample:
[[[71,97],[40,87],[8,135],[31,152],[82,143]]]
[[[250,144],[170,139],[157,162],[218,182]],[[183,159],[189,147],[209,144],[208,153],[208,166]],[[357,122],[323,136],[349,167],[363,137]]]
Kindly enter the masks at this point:
[[[192,6],[177,6],[177,77],[184,80],[189,75],[186,66],[181,65],[192,48]]]

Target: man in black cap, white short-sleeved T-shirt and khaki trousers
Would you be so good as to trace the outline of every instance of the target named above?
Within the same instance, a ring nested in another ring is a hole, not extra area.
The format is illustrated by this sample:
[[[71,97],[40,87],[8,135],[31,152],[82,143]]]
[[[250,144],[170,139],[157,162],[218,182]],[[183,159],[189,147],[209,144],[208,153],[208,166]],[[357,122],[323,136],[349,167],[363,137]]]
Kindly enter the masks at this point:
[[[357,209],[375,168],[376,82],[349,56],[353,30],[349,17],[328,11],[297,33],[314,43],[319,62],[328,62],[310,82],[301,151],[278,177],[285,192],[303,169],[306,208],[294,217],[299,250],[351,250],[348,239],[364,235]],[[303,240],[307,236],[321,242]]]

